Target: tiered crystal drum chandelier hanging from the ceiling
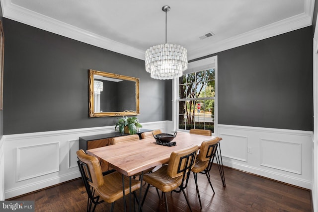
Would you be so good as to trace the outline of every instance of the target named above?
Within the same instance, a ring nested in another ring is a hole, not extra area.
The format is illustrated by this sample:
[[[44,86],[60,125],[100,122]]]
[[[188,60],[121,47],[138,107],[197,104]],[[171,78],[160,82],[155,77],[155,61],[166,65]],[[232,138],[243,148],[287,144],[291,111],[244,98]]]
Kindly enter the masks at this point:
[[[167,43],[167,11],[170,6],[163,6],[165,12],[165,44],[159,44],[146,50],[146,71],[155,79],[173,79],[182,76],[188,68],[187,50],[177,44]]]

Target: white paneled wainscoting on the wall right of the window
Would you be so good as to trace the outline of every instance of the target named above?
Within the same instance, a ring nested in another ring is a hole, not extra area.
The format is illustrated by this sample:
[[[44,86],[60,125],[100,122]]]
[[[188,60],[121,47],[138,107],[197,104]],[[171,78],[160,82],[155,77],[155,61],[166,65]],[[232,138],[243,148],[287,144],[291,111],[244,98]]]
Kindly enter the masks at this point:
[[[313,132],[231,125],[218,129],[225,166],[312,188]]]

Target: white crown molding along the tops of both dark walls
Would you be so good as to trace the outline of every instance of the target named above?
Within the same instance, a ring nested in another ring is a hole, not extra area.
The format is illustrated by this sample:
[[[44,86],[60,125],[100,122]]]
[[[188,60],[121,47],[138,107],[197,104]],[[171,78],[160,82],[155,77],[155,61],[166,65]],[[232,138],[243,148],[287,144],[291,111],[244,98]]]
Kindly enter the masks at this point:
[[[211,43],[203,48],[188,52],[188,60],[197,59],[248,43],[280,35],[286,32],[297,30],[312,25],[314,12],[314,0],[305,0],[305,12],[273,24],[231,37],[218,43]],[[145,60],[145,51],[137,49],[106,37],[82,30],[78,27],[66,24],[59,20],[44,16],[40,13],[25,9],[11,0],[1,0],[3,17],[15,20],[39,29],[43,29],[58,35],[62,35],[83,43],[117,52],[140,60]]]

